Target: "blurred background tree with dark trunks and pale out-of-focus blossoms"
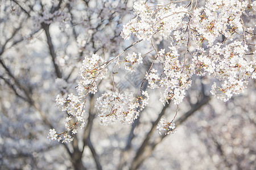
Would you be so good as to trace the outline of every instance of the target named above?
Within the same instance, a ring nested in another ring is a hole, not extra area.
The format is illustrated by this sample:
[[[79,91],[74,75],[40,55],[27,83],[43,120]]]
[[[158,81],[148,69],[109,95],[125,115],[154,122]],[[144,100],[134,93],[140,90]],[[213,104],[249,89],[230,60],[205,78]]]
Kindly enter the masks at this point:
[[[204,4],[179,3],[191,9]],[[73,142],[48,141],[48,130],[64,130],[67,117],[58,111],[56,95],[75,92],[84,56],[112,59],[136,40],[120,36],[133,17],[133,1],[0,2],[0,169],[256,168],[255,79],[224,103],[209,94],[209,79],[193,77],[179,105],[177,132],[161,136],[155,128],[160,118],[174,117],[172,102],[163,106],[158,92],[151,91],[150,104],[131,126],[102,126],[94,105],[112,82],[100,83],[99,94],[88,97],[86,125]],[[244,20],[255,23],[253,17]],[[145,54],[150,46],[144,42],[127,53]],[[159,40],[158,49],[164,46],[166,41]],[[147,53],[136,73],[120,71],[117,90],[138,93],[154,56]]]

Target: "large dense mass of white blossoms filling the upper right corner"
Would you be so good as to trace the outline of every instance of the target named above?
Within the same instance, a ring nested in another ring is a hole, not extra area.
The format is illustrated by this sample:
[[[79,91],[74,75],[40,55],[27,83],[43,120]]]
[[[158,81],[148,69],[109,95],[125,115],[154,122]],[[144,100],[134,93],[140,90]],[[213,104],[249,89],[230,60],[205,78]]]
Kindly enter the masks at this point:
[[[221,86],[214,82],[210,92],[228,101],[233,94],[243,92],[248,80],[256,75],[255,45],[246,42],[255,37],[255,23],[248,27],[242,18],[255,15],[255,6],[255,1],[211,0],[190,12],[175,2],[150,7],[146,1],[137,1],[136,16],[123,25],[121,35],[123,39],[134,34],[138,39],[152,41],[158,34],[170,40],[170,52],[161,49],[157,54],[162,73],[152,69],[145,76],[151,89],[164,88],[160,97],[163,104],[170,99],[181,103],[193,74],[208,74],[220,80]],[[247,54],[248,44],[254,45],[253,54]],[[163,130],[167,123],[162,120],[160,125],[158,129]]]

